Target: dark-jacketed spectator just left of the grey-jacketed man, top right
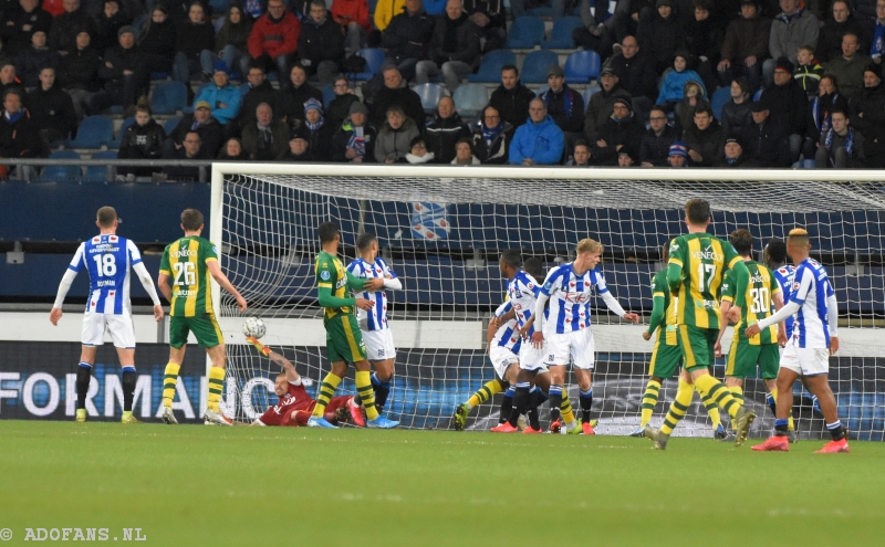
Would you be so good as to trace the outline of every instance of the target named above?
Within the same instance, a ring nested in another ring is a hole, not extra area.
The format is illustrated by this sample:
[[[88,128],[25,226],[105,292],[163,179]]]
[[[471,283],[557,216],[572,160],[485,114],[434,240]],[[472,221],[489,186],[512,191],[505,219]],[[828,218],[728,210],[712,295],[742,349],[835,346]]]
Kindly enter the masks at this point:
[[[885,0],[883,0],[885,1]],[[722,42],[721,61],[717,66],[719,83],[747,80],[752,95],[762,82],[762,62],[768,57],[771,20],[759,13],[758,0],[741,0],[740,17],[728,23]]]

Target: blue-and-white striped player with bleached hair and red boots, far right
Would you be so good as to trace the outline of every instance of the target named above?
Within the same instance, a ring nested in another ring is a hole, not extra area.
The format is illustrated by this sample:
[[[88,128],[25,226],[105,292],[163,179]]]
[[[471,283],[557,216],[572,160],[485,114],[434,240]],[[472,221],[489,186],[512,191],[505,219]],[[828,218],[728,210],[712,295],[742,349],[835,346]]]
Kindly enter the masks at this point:
[[[848,442],[839,420],[836,401],[830,389],[830,356],[839,351],[839,302],[826,275],[826,270],[809,257],[809,233],[801,228],[790,231],[787,252],[796,265],[790,299],[777,314],[747,328],[747,336],[785,320],[795,314],[793,332],[787,341],[778,371],[778,412],[774,435],[757,451],[788,451],[787,417],[793,403],[792,386],[800,377],[809,390],[818,396],[826,429],[833,436],[819,453],[848,452]]]

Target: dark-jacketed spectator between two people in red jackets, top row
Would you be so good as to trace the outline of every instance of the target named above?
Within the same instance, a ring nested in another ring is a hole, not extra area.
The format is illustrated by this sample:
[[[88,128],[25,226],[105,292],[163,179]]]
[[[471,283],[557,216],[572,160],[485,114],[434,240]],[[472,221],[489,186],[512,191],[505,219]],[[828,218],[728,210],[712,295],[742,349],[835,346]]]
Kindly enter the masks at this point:
[[[320,85],[332,83],[341,70],[344,34],[341,25],[329,17],[323,0],[310,2],[310,15],[301,23],[298,54],[308,73],[316,74]],[[316,154],[316,150],[312,150],[312,154]]]

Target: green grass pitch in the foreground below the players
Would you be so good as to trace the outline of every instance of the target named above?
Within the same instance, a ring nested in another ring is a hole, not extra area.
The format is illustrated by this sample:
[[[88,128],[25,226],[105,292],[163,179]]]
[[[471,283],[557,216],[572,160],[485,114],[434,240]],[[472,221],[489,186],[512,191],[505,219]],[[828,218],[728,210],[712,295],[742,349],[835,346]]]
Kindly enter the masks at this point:
[[[0,421],[0,545],[30,545],[25,527],[163,546],[878,544],[885,443],[821,444]]]

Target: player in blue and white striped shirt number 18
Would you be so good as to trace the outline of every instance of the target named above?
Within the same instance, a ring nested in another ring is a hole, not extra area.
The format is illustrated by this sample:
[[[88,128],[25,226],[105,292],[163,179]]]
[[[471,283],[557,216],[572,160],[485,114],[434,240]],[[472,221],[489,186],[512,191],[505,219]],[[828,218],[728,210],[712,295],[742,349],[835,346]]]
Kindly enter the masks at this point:
[[[62,318],[62,304],[76,274],[86,270],[90,276],[90,296],[83,315],[83,348],[76,372],[76,421],[86,421],[86,393],[95,364],[97,346],[104,344],[104,333],[111,333],[123,367],[123,423],[137,423],[132,415],[135,391],[135,329],[129,302],[129,271],[134,271],[154,303],[154,318],[163,319],[163,307],[154,281],[142,262],[135,243],[116,234],[119,219],[113,207],[98,209],[95,224],[101,232],[77,248],[74,259],[59,285],[59,293],[49,320],[53,325]]]

